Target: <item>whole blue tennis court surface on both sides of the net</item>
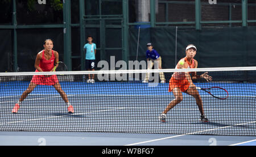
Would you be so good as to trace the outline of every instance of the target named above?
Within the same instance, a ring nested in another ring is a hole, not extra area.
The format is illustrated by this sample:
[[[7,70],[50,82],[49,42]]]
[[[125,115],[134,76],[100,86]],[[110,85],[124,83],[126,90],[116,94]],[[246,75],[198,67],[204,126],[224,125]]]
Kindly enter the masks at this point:
[[[24,100],[19,113],[12,114],[11,109],[28,84],[1,83],[1,94],[5,94],[0,97],[0,133],[1,141],[5,141],[1,145],[19,145],[13,143],[15,138],[38,145],[36,139],[41,137],[48,145],[234,145],[255,139],[251,136],[256,129],[252,92],[255,83],[195,83],[198,87],[220,86],[229,91],[226,100],[200,91],[210,121],[206,123],[199,121],[195,99],[187,94],[168,113],[166,123],[158,120],[174,99],[168,83],[145,86],[141,82],[61,82],[75,108],[73,114],[67,113],[53,87],[38,86]],[[13,90],[17,85],[20,88]]]

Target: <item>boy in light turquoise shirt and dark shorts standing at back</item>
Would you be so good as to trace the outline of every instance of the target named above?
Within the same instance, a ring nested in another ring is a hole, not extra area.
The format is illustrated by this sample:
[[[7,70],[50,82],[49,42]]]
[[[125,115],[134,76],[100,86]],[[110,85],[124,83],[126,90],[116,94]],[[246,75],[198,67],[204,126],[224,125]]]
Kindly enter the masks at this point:
[[[95,67],[95,56],[96,56],[96,44],[92,43],[93,37],[88,36],[87,41],[88,43],[84,45],[84,49],[86,49],[86,56],[85,56],[85,68],[88,71],[94,71]],[[87,83],[94,83],[94,74],[92,77],[89,74],[89,79]]]

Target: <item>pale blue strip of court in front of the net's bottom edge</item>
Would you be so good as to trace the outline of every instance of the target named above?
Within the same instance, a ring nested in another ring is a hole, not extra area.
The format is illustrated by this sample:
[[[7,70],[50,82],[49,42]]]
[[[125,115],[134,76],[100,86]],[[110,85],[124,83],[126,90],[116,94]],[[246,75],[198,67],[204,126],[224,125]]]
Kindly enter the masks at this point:
[[[0,132],[0,146],[256,146],[255,136]]]

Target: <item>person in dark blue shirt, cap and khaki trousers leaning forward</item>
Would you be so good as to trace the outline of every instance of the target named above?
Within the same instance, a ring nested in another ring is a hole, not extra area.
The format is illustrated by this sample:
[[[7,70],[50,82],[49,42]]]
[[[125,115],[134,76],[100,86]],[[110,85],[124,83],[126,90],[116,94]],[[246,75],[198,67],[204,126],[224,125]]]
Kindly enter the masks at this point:
[[[162,58],[160,57],[160,54],[153,49],[153,46],[151,43],[147,43],[147,52],[146,52],[146,58],[148,62],[147,69],[152,69],[154,66],[154,61],[158,61],[158,68],[162,69]],[[159,73],[161,82],[160,83],[166,83],[166,79],[164,78],[163,73]],[[146,74],[146,78],[143,80],[143,83],[148,83],[148,74]]]

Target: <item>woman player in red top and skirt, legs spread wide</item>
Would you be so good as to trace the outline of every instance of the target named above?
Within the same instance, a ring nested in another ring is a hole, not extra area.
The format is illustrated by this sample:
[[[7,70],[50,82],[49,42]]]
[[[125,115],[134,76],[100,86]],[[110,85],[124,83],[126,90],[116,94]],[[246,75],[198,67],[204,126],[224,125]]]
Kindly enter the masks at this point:
[[[44,41],[43,46],[44,50],[39,52],[36,56],[36,72],[53,71],[55,63],[59,62],[59,53],[57,53],[55,50],[52,50],[53,41],[51,39],[47,39],[46,41]],[[18,109],[20,107],[19,105],[24,99],[26,99],[27,95],[30,94],[38,85],[53,86],[57,90],[57,92],[59,92],[65,103],[68,105],[68,113],[74,113],[74,109],[69,103],[67,95],[61,89],[59,80],[57,79],[56,75],[34,75],[27,90],[23,92],[18,103],[15,104],[13,111],[11,111],[12,113],[18,113]]]

